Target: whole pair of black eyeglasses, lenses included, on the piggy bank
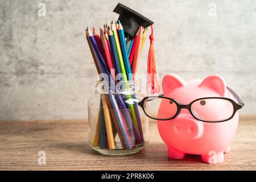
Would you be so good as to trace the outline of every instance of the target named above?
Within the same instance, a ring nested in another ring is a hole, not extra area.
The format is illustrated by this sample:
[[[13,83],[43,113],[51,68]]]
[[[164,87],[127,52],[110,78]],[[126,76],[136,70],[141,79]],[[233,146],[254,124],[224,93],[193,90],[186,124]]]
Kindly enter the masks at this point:
[[[224,122],[232,119],[238,109],[244,106],[241,98],[232,89],[228,88],[238,102],[225,97],[204,97],[182,105],[176,100],[164,96],[144,97],[138,105],[144,113],[157,120],[169,120],[180,114],[181,109],[188,109],[191,115],[203,122]]]

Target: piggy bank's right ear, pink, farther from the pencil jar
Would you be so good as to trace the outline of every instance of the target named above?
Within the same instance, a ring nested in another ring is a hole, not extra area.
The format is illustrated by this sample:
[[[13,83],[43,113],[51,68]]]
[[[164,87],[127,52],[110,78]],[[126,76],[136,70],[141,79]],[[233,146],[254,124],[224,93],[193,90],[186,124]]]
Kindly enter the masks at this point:
[[[206,86],[220,94],[220,96],[225,96],[226,82],[220,75],[211,75],[206,77],[199,86]]]

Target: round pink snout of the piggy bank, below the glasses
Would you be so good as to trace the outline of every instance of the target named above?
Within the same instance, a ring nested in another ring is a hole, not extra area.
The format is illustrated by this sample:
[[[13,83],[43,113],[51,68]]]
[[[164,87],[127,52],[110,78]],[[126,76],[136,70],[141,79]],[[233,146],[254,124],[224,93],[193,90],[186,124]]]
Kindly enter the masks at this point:
[[[197,139],[203,135],[204,125],[193,118],[180,117],[172,121],[171,132],[179,139]]]

